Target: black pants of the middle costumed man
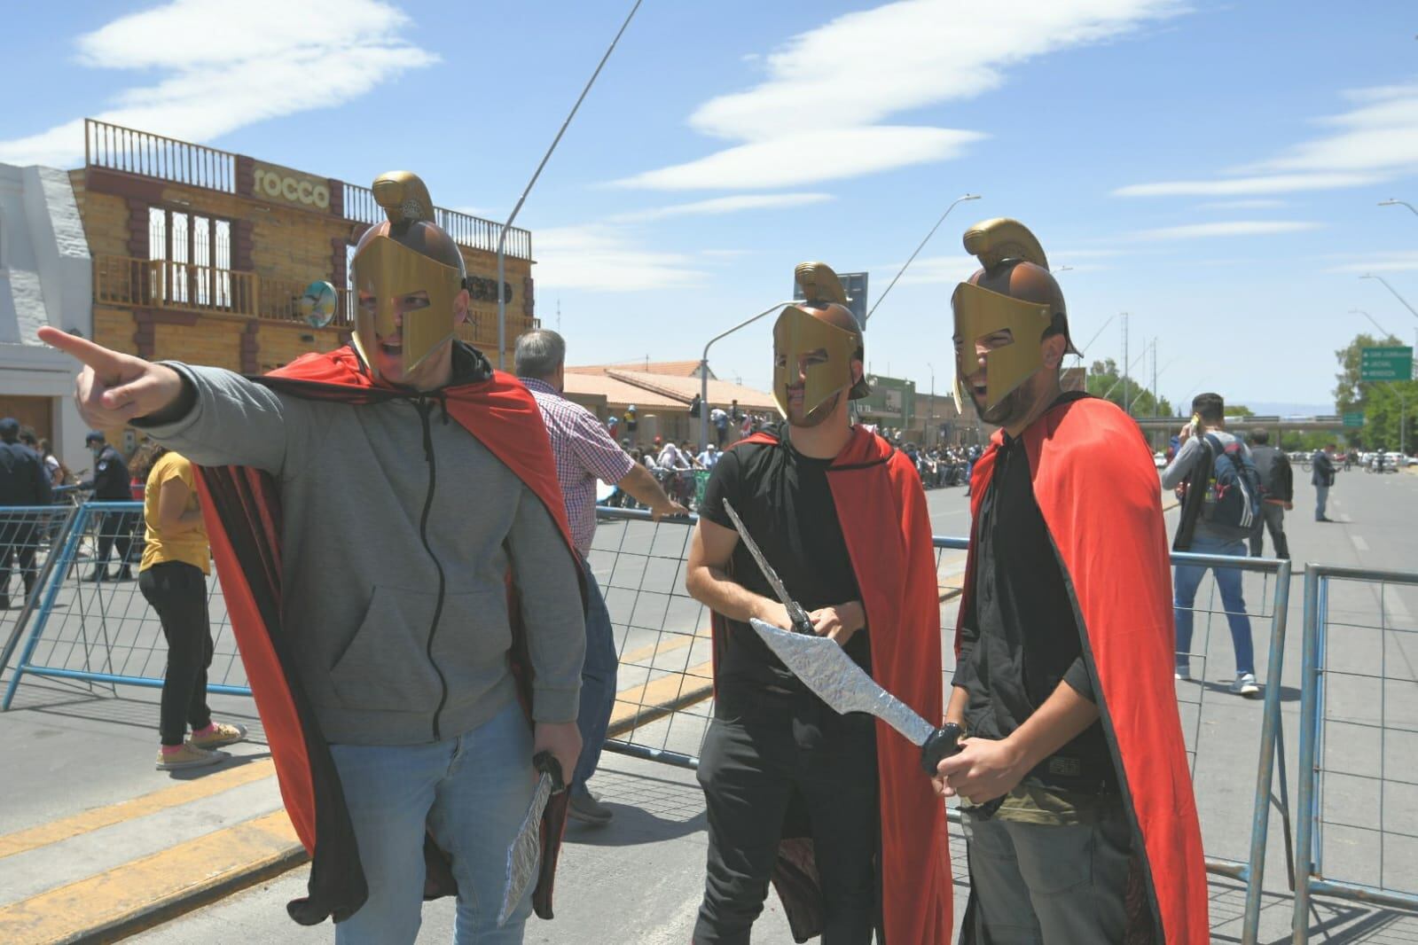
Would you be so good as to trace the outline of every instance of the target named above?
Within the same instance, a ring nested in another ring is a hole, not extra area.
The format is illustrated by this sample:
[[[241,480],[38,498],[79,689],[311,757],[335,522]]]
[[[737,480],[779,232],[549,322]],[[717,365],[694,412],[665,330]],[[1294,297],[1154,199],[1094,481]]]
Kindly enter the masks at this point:
[[[797,812],[814,842],[822,945],[868,945],[879,914],[873,720],[838,715],[807,693],[726,681],[718,696],[698,772],[709,856],[695,945],[749,942],[784,819]]]

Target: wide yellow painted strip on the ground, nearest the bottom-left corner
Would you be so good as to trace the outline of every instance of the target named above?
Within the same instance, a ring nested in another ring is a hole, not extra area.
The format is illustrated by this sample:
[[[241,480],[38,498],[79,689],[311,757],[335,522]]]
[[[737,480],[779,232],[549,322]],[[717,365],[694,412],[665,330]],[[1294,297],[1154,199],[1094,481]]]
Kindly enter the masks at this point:
[[[52,945],[132,934],[303,857],[289,817],[277,810],[0,908],[0,941]]]

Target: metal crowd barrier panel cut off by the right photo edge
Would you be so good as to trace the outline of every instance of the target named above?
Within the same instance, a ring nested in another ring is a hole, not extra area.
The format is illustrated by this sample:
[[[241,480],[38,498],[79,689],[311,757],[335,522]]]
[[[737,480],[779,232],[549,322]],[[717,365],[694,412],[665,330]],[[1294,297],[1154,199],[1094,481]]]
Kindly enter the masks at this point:
[[[1305,571],[1296,945],[1313,895],[1418,910],[1418,625],[1397,587],[1418,572]]]

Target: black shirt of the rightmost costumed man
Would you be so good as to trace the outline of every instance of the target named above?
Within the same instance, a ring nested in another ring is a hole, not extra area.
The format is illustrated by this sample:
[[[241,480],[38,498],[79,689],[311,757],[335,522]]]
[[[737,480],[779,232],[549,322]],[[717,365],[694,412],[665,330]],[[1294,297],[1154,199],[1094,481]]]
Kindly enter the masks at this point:
[[[1004,738],[1066,681],[1096,701],[1064,570],[1034,497],[1029,458],[1008,435],[976,523],[974,588],[951,683],[973,734]],[[1107,791],[1117,775],[1099,723],[1031,772],[1071,791]]]

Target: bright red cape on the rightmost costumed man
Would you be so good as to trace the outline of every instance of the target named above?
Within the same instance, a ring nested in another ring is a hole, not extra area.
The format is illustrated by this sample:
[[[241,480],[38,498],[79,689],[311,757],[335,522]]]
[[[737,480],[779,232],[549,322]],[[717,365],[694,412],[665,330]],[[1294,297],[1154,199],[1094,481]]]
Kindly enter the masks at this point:
[[[1132,418],[1096,397],[1065,395],[1022,436],[1133,827],[1126,941],[1205,945],[1207,874],[1173,683],[1177,636],[1157,468]],[[1001,442],[995,432],[974,466],[974,521]],[[974,592],[974,551],[971,540],[961,615]],[[959,640],[957,626],[957,653]],[[961,942],[970,941],[967,928]]]

